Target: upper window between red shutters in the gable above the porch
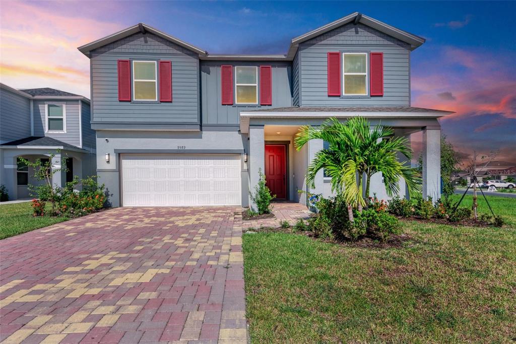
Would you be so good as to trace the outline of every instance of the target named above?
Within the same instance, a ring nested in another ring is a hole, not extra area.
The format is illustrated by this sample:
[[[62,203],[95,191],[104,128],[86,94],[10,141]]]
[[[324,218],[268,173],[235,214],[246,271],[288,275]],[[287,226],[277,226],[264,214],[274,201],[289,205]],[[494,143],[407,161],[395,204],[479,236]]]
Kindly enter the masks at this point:
[[[344,95],[367,95],[367,53],[344,53],[342,56]]]

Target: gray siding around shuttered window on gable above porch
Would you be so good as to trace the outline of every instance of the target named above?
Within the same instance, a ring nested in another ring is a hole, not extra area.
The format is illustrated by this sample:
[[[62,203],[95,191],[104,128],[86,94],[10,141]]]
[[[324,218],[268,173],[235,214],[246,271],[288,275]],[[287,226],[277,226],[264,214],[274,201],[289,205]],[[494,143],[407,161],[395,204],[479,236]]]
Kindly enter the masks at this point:
[[[327,53],[338,51],[382,52],[383,96],[329,97]],[[405,42],[366,25],[349,23],[300,44],[298,54],[301,106],[410,105],[410,46]]]

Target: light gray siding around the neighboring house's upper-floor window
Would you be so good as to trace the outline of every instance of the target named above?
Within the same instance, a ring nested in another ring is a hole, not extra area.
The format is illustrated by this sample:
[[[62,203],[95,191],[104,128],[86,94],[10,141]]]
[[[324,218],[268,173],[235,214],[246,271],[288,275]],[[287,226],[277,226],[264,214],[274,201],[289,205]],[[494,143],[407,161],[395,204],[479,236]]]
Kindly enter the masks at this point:
[[[66,133],[45,133],[45,105],[65,104]],[[34,100],[34,136],[47,136],[74,146],[80,145],[79,139],[79,102],[76,100]]]

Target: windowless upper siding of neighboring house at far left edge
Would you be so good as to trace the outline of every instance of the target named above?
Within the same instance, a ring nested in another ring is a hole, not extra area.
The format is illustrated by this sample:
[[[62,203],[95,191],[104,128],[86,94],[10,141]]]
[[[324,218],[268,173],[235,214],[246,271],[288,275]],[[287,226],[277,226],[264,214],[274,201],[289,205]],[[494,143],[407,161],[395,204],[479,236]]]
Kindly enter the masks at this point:
[[[30,136],[30,100],[23,95],[0,89],[0,143]]]

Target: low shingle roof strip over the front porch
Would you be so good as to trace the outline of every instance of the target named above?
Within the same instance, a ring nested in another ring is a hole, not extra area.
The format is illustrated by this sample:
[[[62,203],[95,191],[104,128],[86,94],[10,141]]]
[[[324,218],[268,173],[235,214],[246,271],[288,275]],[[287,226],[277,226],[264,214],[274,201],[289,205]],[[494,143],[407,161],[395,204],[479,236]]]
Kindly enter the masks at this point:
[[[418,112],[437,112],[452,113],[450,111],[425,109],[413,106],[344,106],[344,107],[326,107],[326,106],[291,106],[266,108],[260,110],[249,110],[246,112],[399,112],[399,113],[418,113]]]

